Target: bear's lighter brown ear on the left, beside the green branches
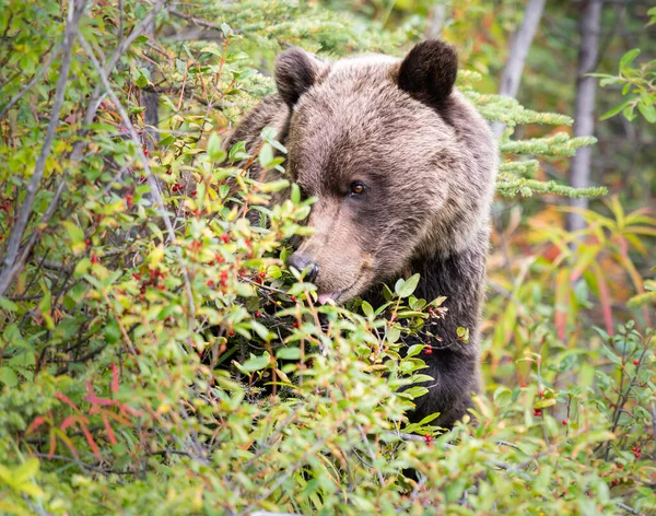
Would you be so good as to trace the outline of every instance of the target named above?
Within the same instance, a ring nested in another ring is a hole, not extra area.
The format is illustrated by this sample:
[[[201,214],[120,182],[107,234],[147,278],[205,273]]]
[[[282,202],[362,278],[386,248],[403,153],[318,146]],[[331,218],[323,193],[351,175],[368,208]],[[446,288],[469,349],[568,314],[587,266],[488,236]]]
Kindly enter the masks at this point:
[[[300,48],[290,48],[276,59],[278,93],[290,107],[298,101],[317,80],[319,62]]]

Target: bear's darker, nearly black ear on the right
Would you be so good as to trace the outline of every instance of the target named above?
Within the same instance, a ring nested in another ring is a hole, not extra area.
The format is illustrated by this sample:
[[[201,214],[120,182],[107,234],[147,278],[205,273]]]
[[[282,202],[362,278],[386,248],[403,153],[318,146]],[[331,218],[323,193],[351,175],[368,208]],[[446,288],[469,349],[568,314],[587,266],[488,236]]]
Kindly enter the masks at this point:
[[[458,56],[449,44],[429,39],[412,48],[398,70],[398,86],[419,99],[441,104],[452,93]]]

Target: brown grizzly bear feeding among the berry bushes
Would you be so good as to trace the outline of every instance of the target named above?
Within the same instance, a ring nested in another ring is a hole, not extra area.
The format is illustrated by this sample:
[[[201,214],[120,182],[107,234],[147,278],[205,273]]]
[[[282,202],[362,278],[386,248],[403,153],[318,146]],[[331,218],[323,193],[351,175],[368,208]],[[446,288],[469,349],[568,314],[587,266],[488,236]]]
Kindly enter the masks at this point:
[[[411,420],[440,412],[449,427],[480,389],[480,316],[497,149],[488,124],[454,90],[457,56],[441,40],[402,59],[333,62],[293,48],[276,62],[278,93],[261,101],[226,144],[255,152],[265,127],[288,149],[286,169],[316,197],[288,265],[305,270],[321,303],[376,301],[380,284],[419,272],[415,294],[446,296],[426,325],[422,355],[434,382]],[[257,166],[257,165],[255,165]],[[251,171],[253,172],[253,171]],[[259,175],[259,172],[256,171]],[[458,327],[469,338],[457,335]]]

